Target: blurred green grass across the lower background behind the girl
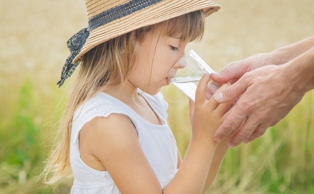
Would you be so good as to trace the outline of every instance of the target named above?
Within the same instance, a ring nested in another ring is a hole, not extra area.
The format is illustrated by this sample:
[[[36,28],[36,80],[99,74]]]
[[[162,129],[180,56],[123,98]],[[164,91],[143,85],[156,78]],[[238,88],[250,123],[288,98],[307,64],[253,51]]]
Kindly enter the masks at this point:
[[[0,96],[0,193],[68,192],[71,180],[55,191],[36,180],[63,112],[63,90],[55,85],[44,90],[26,78],[6,91]],[[172,85],[163,93],[184,155],[191,135],[188,98]],[[61,108],[56,108],[58,104]],[[313,112],[311,91],[262,137],[230,149],[210,193],[313,193]]]

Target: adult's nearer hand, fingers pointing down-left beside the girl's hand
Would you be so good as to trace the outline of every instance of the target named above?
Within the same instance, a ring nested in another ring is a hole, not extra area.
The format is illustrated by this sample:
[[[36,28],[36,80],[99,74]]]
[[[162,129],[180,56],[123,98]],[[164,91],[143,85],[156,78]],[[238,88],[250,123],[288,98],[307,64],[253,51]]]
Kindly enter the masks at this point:
[[[216,141],[224,139],[236,130],[229,140],[230,147],[235,147],[242,141],[250,142],[286,116],[300,101],[303,95],[297,95],[297,87],[289,80],[291,72],[287,72],[284,67],[285,65],[266,65],[251,70],[252,67],[248,65],[241,69],[234,63],[227,71],[221,71],[221,77],[211,75],[215,81],[225,81],[232,76],[237,77],[235,75],[240,77],[234,84],[215,94],[220,103],[241,96],[216,131]],[[247,70],[249,72],[245,73]],[[226,78],[227,76],[229,77]]]

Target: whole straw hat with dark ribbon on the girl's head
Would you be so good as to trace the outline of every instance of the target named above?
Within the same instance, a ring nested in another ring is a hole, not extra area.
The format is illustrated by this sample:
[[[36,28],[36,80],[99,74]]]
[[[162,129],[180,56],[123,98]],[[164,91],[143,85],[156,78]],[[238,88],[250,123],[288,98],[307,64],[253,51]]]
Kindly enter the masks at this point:
[[[203,9],[205,16],[220,9],[210,0],[85,0],[88,27],[68,40],[71,55],[62,70],[61,86],[74,71],[81,56],[96,45],[188,12]]]

